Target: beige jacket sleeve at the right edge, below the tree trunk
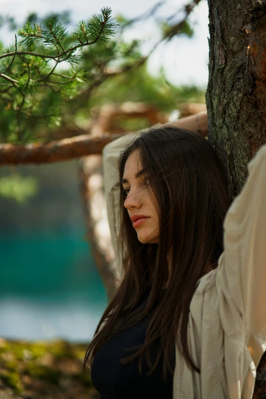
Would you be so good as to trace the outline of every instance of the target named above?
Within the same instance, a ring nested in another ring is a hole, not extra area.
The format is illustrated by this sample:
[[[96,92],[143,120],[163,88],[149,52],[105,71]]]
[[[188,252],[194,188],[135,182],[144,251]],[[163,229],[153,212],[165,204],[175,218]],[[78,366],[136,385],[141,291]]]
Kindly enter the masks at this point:
[[[216,285],[225,332],[266,336],[266,145],[248,172],[224,220]]]

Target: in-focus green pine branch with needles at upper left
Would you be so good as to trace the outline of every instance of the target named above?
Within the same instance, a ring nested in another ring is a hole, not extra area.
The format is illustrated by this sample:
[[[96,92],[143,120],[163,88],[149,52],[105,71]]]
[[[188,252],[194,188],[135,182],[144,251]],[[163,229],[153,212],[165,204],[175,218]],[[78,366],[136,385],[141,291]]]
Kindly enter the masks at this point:
[[[76,54],[77,50],[97,42],[110,40],[110,36],[114,35],[115,28],[118,26],[113,22],[114,18],[112,18],[111,12],[110,8],[101,9],[100,15],[94,15],[92,22],[86,24],[86,31],[83,29],[84,22],[79,22],[70,42],[68,33],[61,22],[47,20],[45,30],[41,29],[41,24],[25,23],[18,31],[18,36],[23,39],[17,44],[15,35],[14,50],[9,48],[0,55],[0,63],[4,66],[2,72],[0,71],[0,80],[2,78],[7,81],[7,84],[12,84],[10,90],[13,96],[14,111],[21,112],[26,99],[38,87],[41,88],[42,83],[46,82],[46,88],[54,93],[59,93],[60,87],[63,88],[67,85],[72,85],[69,86],[69,92],[74,93],[75,87],[85,83],[82,71],[70,72],[69,76],[56,74],[55,71],[58,65],[64,61],[68,62],[72,68],[74,64],[81,61],[82,56]],[[11,58],[11,62],[7,64],[6,60],[9,58]],[[49,68],[49,61],[55,61],[55,65],[51,68]],[[11,68],[12,65],[15,67]],[[64,92],[66,93],[65,89]],[[39,95],[39,100],[41,97],[43,94]],[[32,113],[27,111],[26,114]],[[20,121],[20,119],[18,120]]]

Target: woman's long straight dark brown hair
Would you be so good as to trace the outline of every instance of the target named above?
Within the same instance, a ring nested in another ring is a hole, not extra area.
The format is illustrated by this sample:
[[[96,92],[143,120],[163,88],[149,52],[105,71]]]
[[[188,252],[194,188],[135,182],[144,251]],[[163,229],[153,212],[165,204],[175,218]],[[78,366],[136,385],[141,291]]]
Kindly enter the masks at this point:
[[[169,125],[143,132],[123,150],[120,181],[127,158],[135,150],[139,151],[158,205],[159,243],[139,242],[123,206],[125,193],[120,184],[123,279],[99,321],[84,366],[89,356],[92,365],[105,342],[151,314],[144,344],[121,363],[140,357],[141,373],[146,353],[151,375],[163,355],[166,379],[167,370],[171,374],[174,371],[170,359],[176,342],[188,366],[200,373],[189,351],[189,310],[198,280],[217,268],[223,252],[223,221],[230,205],[227,173],[205,138]],[[167,289],[162,289],[166,285]],[[148,300],[138,307],[147,289]],[[152,365],[149,347],[158,338],[161,345]]]

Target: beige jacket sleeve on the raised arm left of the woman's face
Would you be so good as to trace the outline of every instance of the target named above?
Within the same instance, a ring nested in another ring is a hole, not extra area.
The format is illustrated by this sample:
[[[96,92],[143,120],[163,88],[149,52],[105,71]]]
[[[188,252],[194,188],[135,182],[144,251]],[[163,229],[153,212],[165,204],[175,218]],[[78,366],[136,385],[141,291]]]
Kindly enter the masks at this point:
[[[115,263],[119,276],[122,275],[122,259],[118,249],[119,237],[119,171],[118,157],[121,151],[139,136],[139,132],[129,133],[105,145],[102,150],[103,187],[107,204],[107,217],[114,249]]]

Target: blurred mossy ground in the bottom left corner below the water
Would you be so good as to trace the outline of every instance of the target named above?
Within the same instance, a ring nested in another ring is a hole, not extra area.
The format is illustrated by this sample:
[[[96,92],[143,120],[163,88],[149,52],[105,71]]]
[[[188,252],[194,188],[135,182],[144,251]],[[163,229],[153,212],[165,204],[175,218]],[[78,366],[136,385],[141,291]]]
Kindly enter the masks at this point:
[[[0,399],[98,399],[87,344],[12,341],[0,338]]]

